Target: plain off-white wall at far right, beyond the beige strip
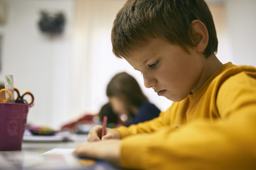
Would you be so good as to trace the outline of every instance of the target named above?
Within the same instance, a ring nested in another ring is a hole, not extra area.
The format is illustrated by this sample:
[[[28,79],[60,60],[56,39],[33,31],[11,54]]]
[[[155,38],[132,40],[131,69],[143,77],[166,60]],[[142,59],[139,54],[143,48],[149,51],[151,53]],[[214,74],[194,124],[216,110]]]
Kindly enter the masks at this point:
[[[256,1],[226,0],[234,64],[256,66]]]

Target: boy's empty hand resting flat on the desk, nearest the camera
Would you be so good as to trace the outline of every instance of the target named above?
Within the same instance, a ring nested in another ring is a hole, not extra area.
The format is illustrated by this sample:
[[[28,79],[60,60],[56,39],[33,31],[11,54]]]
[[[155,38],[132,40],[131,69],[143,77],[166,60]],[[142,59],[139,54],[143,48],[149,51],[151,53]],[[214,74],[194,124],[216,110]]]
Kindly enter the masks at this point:
[[[105,140],[92,143],[82,143],[73,152],[73,155],[89,158],[104,159],[119,166],[120,140]]]

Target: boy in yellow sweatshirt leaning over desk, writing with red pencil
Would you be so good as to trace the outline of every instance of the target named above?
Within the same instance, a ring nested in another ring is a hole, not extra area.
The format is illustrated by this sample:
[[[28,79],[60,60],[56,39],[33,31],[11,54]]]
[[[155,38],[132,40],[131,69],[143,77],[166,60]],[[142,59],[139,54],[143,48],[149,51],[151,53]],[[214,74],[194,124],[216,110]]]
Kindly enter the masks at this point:
[[[256,68],[217,59],[203,0],[129,0],[111,38],[145,87],[174,102],[154,120],[107,129],[104,141],[95,126],[74,154],[130,169],[256,168]]]

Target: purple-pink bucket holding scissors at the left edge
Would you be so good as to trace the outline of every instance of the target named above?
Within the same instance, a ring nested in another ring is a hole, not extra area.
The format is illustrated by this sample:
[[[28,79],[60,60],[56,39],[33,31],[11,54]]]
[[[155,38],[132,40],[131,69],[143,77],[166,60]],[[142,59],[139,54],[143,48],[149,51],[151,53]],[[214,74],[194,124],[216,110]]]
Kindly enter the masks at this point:
[[[0,103],[0,150],[21,149],[29,105]]]

